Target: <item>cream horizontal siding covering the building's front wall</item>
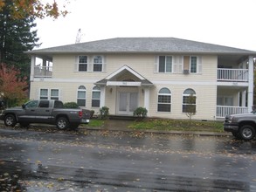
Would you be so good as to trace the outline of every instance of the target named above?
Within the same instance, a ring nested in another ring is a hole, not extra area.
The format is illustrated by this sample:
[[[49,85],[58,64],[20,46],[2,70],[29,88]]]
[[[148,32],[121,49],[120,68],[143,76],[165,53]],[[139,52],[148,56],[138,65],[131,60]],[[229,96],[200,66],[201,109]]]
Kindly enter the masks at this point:
[[[202,56],[202,73],[158,73],[155,72],[155,54],[107,54],[106,72],[76,72],[76,55],[55,55],[53,57],[52,79],[38,79],[31,82],[31,99],[39,98],[40,88],[58,88],[63,102],[77,100],[77,90],[79,86],[86,86],[86,108],[93,109],[95,113],[99,108],[92,108],[93,83],[106,78],[111,73],[120,69],[123,65],[128,65],[135,72],[141,74],[145,79],[149,79],[154,86],[150,88],[149,94],[149,116],[187,119],[182,113],[183,91],[192,88],[197,93],[197,114],[193,119],[214,120],[217,100],[217,57]],[[124,74],[119,76],[119,80],[128,79],[130,76]],[[157,112],[157,93],[167,87],[171,91],[171,112]],[[116,113],[116,101],[118,92],[125,87],[106,87],[105,106],[108,106],[111,114]],[[144,106],[143,87],[134,88],[139,95],[139,106]]]

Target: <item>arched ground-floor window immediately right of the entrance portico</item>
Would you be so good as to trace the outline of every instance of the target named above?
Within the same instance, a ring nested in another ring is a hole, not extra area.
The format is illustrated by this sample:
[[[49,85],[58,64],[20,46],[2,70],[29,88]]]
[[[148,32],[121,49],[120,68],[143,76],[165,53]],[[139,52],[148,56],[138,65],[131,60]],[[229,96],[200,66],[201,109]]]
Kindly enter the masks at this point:
[[[158,93],[157,112],[170,112],[171,93],[168,88],[162,88]]]

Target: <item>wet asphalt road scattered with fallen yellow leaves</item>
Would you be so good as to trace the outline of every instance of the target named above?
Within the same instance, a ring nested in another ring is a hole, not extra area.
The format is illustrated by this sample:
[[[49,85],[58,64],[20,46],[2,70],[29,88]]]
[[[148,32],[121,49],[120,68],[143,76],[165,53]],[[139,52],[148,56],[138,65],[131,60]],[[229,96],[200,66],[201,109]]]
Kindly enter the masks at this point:
[[[256,191],[256,141],[0,128],[1,191]]]

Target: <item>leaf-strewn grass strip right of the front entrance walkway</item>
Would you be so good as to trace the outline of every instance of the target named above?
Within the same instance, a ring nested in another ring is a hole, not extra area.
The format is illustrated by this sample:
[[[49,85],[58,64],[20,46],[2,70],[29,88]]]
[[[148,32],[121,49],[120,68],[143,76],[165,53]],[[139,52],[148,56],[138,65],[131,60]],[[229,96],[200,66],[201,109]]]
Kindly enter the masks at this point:
[[[145,119],[134,121],[128,127],[136,130],[223,132],[221,121]]]

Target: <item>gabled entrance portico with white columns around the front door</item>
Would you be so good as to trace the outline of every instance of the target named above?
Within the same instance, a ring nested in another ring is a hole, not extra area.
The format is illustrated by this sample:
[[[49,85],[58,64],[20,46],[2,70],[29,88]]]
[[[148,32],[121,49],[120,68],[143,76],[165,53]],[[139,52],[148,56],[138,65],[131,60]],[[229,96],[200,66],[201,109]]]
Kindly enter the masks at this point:
[[[154,85],[128,65],[121,66],[95,85],[100,86],[100,107],[109,107],[110,113],[133,115],[138,106],[149,112],[150,87]]]

